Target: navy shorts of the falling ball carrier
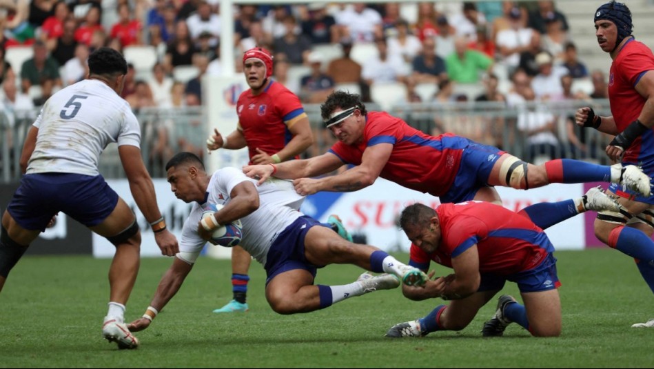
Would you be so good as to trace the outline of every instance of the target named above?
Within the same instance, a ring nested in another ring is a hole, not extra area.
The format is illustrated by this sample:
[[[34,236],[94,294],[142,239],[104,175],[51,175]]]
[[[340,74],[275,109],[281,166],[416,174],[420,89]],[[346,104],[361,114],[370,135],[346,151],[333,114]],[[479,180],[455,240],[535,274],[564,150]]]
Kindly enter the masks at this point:
[[[314,266],[305,257],[305,237],[309,228],[314,226],[327,227],[305,215],[296,219],[277,236],[266,255],[266,285],[276,275],[294,269],[307,270],[316,277],[317,269],[323,266]]]

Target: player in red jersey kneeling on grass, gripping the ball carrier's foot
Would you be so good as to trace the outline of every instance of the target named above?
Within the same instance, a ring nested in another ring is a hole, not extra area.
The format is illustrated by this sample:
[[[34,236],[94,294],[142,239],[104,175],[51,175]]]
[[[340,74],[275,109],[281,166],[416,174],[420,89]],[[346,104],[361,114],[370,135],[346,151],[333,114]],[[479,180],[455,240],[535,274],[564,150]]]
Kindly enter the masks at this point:
[[[561,303],[554,247],[542,228],[554,208],[615,210],[617,203],[593,188],[582,199],[539,203],[520,213],[480,201],[445,203],[436,209],[420,203],[407,206],[400,226],[411,240],[410,266],[428,270],[433,260],[454,273],[427,281],[421,288],[402,286],[412,300],[453,300],[415,321],[391,327],[387,337],[421,337],[438,330],[462,330],[506,281],[518,283],[524,306],[509,295],[498,301],[495,316],[484,323],[484,336],[501,336],[518,323],[536,337],[561,334]],[[540,210],[540,211],[534,211]],[[558,221],[572,215],[562,214]],[[429,277],[433,277],[433,272]]]

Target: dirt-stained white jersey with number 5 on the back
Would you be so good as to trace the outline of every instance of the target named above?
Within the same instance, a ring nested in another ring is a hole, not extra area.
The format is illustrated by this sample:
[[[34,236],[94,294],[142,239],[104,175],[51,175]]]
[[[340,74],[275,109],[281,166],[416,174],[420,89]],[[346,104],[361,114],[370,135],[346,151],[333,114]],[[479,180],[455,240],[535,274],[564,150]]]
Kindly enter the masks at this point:
[[[85,79],[53,94],[34,127],[39,134],[28,174],[95,176],[100,154],[109,143],[141,147],[141,128],[130,104],[97,79]]]

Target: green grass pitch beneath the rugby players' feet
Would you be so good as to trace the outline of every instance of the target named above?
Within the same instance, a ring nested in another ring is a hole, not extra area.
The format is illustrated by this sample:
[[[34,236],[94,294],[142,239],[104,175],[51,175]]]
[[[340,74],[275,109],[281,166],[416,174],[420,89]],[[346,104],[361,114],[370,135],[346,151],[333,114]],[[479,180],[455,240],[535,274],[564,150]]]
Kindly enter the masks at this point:
[[[513,324],[484,339],[493,300],[460,332],[388,339],[387,328],[427,314],[440,299],[414,302],[400,290],[374,292],[304,315],[277,315],[265,301],[263,268],[253,263],[250,311],[215,315],[231,299],[229,261],[201,259],[182,290],[137,337],[117,350],[101,337],[110,260],[24,257],[0,294],[3,368],[651,368],[654,330],[632,323],[654,317],[651,291],[633,261],[615,250],[557,252],[563,334],[536,339]],[[407,260],[407,255],[398,255]],[[143,259],[125,319],[140,317],[170,259]],[[440,270],[442,270],[442,267]],[[342,284],[354,266],[328,266],[317,283]],[[444,274],[442,270],[439,274]],[[517,295],[514,285],[504,292]]]

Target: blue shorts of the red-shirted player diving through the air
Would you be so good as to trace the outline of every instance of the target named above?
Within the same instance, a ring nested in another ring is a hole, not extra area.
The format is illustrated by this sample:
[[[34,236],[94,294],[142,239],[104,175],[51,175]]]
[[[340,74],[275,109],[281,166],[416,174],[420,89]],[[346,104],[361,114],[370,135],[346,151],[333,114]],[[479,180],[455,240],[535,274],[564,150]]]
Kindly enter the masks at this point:
[[[489,186],[488,178],[491,170],[504,153],[493,146],[471,141],[463,150],[459,170],[452,186],[440,197],[440,202],[460,203],[474,199],[480,188]]]

